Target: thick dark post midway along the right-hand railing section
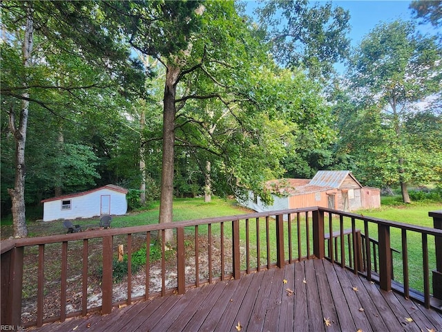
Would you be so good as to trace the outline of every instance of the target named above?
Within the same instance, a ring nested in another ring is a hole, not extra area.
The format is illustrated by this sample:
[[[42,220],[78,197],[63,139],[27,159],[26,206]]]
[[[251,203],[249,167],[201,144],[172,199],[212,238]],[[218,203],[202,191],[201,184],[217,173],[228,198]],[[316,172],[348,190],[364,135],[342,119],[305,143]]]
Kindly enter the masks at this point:
[[[392,250],[390,226],[378,224],[379,284],[384,291],[392,290]]]

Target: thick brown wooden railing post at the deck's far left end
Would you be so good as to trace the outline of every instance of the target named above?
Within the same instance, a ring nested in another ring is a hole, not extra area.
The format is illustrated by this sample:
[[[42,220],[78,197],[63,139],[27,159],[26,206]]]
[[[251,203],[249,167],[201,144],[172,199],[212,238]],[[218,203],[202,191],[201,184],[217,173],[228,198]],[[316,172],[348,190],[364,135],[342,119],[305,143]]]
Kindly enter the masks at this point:
[[[21,289],[23,285],[23,247],[1,255],[1,324],[21,326]]]

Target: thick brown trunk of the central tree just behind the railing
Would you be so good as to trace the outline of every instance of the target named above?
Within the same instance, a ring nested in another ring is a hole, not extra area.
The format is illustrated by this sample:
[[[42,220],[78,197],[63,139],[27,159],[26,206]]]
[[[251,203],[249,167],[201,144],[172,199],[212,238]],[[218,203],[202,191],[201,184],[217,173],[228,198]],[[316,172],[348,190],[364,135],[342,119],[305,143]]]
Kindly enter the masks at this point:
[[[163,111],[163,154],[161,174],[160,223],[173,221],[173,162],[175,158],[175,92],[180,68],[166,68]],[[173,241],[172,230],[166,232],[166,242]]]

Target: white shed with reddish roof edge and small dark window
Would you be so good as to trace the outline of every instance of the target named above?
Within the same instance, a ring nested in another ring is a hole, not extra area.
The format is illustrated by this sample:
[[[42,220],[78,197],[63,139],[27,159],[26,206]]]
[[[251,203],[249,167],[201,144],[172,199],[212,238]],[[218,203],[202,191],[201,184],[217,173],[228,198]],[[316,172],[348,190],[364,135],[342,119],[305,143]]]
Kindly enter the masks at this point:
[[[41,201],[44,203],[43,221],[126,214],[127,192],[117,185],[105,185],[87,192],[44,199]]]

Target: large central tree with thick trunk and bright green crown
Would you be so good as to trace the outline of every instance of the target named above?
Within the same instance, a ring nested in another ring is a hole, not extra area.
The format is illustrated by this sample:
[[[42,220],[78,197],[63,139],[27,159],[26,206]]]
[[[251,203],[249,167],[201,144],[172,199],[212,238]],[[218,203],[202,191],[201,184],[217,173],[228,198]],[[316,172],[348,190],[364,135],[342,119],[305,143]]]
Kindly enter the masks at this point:
[[[122,1],[106,6],[127,18],[123,28],[131,45],[166,68],[160,222],[171,222],[176,121],[185,116],[191,100],[249,99],[244,85],[256,42],[231,1],[204,6],[198,1]]]

